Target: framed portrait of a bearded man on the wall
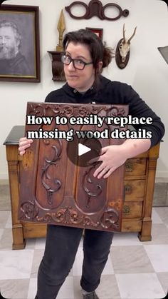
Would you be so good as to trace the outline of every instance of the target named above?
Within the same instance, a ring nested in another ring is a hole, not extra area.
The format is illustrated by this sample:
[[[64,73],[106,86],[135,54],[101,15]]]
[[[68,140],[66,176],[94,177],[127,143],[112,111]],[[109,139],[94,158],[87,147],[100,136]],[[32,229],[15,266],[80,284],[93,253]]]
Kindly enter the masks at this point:
[[[0,81],[41,81],[38,6],[0,6]]]

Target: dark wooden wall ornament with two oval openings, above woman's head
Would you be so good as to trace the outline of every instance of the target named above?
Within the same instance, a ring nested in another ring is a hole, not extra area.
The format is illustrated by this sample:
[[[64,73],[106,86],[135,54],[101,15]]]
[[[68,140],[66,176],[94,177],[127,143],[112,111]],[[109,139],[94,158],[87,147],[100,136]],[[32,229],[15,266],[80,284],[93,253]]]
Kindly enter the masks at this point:
[[[71,9],[73,6],[80,5],[85,7],[85,14],[83,16],[74,16],[71,12]],[[107,8],[109,7],[114,7],[115,9],[118,10],[118,15],[116,17],[110,18],[105,15],[105,12],[107,12]],[[103,6],[101,1],[99,0],[91,0],[89,4],[85,4],[82,1],[75,1],[71,3],[69,6],[65,6],[65,10],[70,14],[71,18],[73,19],[91,19],[93,16],[98,16],[99,19],[101,20],[108,20],[108,21],[115,21],[117,19],[120,19],[121,16],[128,16],[129,15],[129,10],[124,9],[122,11],[122,8],[118,4],[114,3],[108,3]]]

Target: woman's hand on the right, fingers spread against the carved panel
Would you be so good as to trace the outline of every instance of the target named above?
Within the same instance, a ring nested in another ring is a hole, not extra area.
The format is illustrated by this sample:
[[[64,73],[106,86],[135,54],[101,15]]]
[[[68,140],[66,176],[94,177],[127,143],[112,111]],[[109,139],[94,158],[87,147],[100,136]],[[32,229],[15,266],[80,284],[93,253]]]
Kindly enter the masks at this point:
[[[97,161],[102,161],[98,169],[93,173],[94,177],[108,178],[110,174],[120,167],[127,157],[122,151],[122,146],[105,146],[102,148],[101,156]]]

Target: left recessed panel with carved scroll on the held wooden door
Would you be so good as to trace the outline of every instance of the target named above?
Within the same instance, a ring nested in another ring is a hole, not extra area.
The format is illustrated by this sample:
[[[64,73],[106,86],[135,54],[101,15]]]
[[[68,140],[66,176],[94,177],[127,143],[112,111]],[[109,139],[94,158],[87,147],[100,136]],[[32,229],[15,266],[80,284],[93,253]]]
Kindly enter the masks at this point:
[[[36,174],[36,201],[41,208],[57,208],[63,201],[67,160],[65,141],[41,141]]]

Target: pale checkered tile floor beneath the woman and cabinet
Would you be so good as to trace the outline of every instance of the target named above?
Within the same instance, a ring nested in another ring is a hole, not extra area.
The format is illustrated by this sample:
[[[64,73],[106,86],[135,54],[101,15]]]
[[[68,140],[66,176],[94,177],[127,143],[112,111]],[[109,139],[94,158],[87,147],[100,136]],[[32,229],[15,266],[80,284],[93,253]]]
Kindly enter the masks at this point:
[[[100,299],[164,298],[168,288],[168,207],[153,208],[152,241],[137,233],[115,234],[97,293]],[[44,239],[28,239],[24,250],[11,250],[11,213],[0,211],[0,288],[10,299],[33,299]],[[73,269],[58,299],[81,299],[82,240]],[[50,299],[50,298],[46,298]]]

